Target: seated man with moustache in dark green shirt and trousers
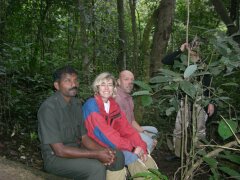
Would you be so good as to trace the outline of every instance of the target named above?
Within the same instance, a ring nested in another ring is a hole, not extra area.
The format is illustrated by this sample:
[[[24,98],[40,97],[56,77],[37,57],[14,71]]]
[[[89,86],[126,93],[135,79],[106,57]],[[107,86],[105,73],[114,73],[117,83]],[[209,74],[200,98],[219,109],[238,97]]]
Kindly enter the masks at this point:
[[[75,97],[79,87],[77,72],[66,66],[53,77],[57,91],[38,111],[44,169],[75,180],[125,179],[123,153],[103,147],[87,135],[82,106]]]

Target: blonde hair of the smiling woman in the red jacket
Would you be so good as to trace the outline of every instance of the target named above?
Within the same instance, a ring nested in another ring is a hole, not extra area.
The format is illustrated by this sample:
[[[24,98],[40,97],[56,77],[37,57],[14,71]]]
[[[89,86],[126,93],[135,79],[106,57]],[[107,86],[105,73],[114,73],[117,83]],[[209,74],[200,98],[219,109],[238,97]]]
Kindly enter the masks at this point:
[[[116,95],[116,84],[117,84],[117,82],[116,82],[115,77],[112,74],[110,74],[109,72],[103,72],[95,78],[95,80],[93,81],[93,84],[92,84],[94,94],[98,94],[98,92],[99,92],[98,87],[101,85],[101,83],[104,80],[112,80],[112,82],[113,82],[113,96],[115,96]]]

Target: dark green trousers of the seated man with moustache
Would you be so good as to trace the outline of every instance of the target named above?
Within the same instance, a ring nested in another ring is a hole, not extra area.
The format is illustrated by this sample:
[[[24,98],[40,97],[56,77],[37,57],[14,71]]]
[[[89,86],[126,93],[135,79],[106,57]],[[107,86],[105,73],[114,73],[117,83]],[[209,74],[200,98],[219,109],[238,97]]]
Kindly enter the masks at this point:
[[[74,180],[105,180],[106,169],[118,171],[123,169],[123,167],[123,153],[117,151],[116,161],[111,166],[106,167],[96,159],[54,157],[54,160],[45,166],[45,170],[49,173]]]

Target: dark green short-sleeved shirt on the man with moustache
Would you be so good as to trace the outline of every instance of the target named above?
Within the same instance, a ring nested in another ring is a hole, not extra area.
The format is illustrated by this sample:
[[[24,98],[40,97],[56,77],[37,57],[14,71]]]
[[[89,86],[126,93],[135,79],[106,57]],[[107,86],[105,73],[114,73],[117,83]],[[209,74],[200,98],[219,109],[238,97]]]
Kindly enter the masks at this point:
[[[82,105],[77,98],[67,103],[61,93],[56,92],[43,102],[38,111],[38,136],[44,163],[55,157],[50,144],[79,146],[77,140],[86,133]]]

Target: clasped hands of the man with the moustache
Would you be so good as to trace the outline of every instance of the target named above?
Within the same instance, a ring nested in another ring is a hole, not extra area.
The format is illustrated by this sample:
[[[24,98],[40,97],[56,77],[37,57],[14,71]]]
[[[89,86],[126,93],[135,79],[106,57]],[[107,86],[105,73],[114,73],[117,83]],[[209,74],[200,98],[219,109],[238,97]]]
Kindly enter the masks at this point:
[[[116,159],[115,154],[116,151],[105,148],[98,151],[98,160],[101,161],[104,165],[111,165]]]

